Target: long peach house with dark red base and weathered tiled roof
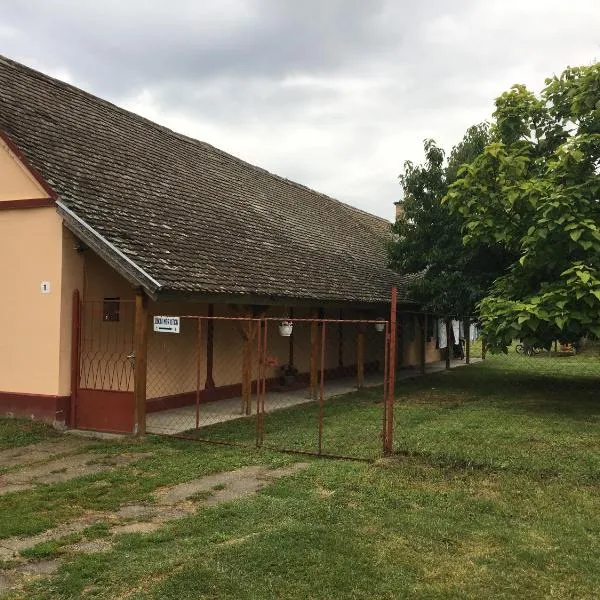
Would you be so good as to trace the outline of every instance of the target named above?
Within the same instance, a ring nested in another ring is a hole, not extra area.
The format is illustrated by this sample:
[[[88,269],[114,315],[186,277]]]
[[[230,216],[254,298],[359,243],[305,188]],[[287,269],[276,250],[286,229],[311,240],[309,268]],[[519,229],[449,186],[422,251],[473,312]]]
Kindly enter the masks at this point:
[[[396,286],[415,325],[389,235],[384,219],[0,57],[0,414],[130,431],[136,385],[148,410],[185,404],[196,382],[203,401],[239,394],[244,316],[385,318]],[[156,315],[207,320],[168,337]],[[399,364],[419,361],[412,325]],[[353,327],[330,328],[332,376],[381,369],[381,338]],[[269,343],[312,376],[309,329],[290,341],[271,327]]]

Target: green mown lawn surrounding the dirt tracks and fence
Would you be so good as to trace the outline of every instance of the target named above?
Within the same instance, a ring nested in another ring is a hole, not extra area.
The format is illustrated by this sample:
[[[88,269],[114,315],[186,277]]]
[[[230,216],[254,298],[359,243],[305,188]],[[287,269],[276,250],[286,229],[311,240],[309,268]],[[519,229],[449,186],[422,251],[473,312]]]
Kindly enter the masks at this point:
[[[328,404],[329,447],[370,453],[371,436],[361,432],[378,426],[377,402],[377,393],[364,392]],[[599,417],[595,352],[491,357],[402,383],[395,457],[310,460],[255,496],[200,506],[152,534],[121,535],[108,552],[66,555],[56,575],[15,597],[597,598]],[[314,443],[314,414],[306,418],[299,409],[271,415],[267,441]],[[3,436],[24,439],[10,433],[22,424],[1,427]],[[219,428],[231,439],[251,435],[243,423]],[[347,430],[352,435],[342,435]],[[0,537],[149,502],[157,487],[204,473],[298,460],[165,439],[95,451],[127,448],[153,455],[0,496]],[[86,535],[102,535],[97,529]],[[52,552],[61,548],[41,554]]]

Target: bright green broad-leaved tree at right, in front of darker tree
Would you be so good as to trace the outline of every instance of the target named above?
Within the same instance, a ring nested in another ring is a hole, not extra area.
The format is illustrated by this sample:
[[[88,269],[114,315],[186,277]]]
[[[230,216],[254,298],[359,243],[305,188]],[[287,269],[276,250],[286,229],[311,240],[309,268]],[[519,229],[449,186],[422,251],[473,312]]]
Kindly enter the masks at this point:
[[[547,79],[539,97],[513,86],[494,119],[444,200],[467,248],[515,255],[479,304],[488,343],[600,336],[600,63]]]

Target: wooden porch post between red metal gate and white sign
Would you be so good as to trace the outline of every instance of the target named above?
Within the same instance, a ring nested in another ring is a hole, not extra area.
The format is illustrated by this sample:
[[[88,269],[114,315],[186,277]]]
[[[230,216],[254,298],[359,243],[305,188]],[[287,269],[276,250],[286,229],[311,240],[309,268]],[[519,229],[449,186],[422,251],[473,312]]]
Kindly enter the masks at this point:
[[[136,290],[135,293],[134,353],[133,433],[141,436],[146,434],[146,375],[148,371],[148,296],[141,289]]]

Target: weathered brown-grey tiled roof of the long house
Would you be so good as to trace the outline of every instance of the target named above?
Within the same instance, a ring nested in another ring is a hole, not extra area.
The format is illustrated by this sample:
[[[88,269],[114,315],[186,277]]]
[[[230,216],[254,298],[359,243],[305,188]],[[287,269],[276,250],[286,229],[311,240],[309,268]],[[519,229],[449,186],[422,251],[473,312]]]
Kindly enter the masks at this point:
[[[161,292],[406,299],[384,219],[1,56],[0,129]]]

